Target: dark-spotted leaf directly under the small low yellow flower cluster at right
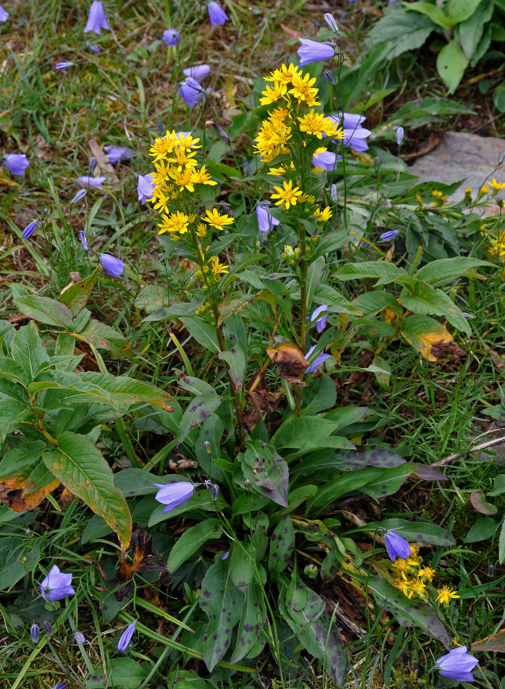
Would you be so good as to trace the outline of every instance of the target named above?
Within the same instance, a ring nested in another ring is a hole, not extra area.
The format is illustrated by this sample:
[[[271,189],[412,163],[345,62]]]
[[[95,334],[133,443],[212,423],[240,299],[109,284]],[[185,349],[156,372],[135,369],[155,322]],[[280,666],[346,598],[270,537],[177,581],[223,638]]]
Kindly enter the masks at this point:
[[[433,610],[422,603],[411,601],[382,577],[369,577],[367,586],[373,593],[378,606],[382,610],[393,613],[402,627],[420,627],[432,639],[442,641],[442,644],[449,648],[451,637]]]

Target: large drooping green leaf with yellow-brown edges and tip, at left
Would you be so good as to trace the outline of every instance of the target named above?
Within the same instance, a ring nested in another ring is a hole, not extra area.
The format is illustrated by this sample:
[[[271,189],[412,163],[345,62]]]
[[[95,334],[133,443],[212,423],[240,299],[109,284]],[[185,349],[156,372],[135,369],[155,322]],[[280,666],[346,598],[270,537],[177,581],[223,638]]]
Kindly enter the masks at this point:
[[[65,431],[58,438],[58,447],[45,451],[42,457],[70,493],[105,519],[125,551],[132,537],[132,517],[101,452],[83,435]]]

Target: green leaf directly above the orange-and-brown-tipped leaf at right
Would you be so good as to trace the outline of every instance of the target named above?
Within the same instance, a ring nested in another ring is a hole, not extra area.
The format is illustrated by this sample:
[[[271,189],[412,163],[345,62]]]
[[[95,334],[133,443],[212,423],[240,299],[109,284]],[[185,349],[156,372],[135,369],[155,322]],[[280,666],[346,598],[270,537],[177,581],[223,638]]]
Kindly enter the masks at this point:
[[[455,328],[470,335],[471,328],[459,307],[441,289],[427,282],[409,278],[409,284],[400,294],[400,301],[409,311],[420,316],[444,316]]]

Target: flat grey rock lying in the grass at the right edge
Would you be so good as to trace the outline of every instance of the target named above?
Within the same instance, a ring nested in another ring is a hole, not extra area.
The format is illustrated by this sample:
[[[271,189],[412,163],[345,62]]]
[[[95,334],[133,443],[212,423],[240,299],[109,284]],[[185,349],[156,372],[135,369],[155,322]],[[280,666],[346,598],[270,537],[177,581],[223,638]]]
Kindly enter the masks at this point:
[[[435,150],[418,158],[409,167],[409,172],[417,175],[420,182],[451,184],[464,179],[457,191],[451,194],[450,200],[464,198],[466,187],[471,187],[472,198],[475,199],[488,176],[491,175],[491,179],[494,176],[497,182],[505,182],[505,161],[496,170],[502,153],[505,153],[505,140],[502,138],[446,132]],[[502,196],[505,196],[503,192]]]

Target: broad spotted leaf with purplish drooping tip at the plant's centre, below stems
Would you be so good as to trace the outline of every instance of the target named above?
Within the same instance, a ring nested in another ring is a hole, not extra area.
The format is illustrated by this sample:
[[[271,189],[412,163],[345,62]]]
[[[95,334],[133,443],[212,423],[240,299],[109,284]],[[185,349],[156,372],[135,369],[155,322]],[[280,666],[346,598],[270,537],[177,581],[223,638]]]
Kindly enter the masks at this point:
[[[249,479],[251,487],[261,495],[287,507],[289,471],[286,462],[274,446],[261,440],[246,442],[246,446],[247,450],[237,455],[244,479]]]

